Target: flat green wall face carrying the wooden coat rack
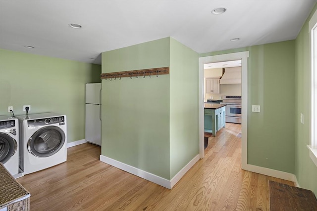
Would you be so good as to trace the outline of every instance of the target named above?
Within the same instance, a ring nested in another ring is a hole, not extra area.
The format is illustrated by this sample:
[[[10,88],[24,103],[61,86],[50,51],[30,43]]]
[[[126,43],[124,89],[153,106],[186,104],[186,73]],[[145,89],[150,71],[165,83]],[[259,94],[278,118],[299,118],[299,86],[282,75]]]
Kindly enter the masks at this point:
[[[169,38],[102,53],[102,72],[169,67]],[[102,155],[169,178],[169,75],[102,81]]]

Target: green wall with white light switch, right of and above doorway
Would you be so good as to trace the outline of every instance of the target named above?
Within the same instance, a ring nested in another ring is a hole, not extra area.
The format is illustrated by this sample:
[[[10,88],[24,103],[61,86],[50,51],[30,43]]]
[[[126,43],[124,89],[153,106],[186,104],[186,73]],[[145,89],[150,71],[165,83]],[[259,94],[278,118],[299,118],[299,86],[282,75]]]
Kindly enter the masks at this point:
[[[294,173],[295,41],[201,54],[249,51],[248,164]],[[251,112],[260,105],[261,113]]]

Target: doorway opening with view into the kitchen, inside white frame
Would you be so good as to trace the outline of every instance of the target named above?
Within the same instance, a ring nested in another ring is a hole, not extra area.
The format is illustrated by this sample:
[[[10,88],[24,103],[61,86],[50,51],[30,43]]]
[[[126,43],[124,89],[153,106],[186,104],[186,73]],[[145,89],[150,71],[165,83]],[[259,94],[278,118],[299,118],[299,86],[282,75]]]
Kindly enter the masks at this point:
[[[230,149],[227,155],[231,159],[234,157],[233,160],[239,160],[239,169],[242,133],[241,85],[241,60],[204,64],[205,156],[207,159],[210,156],[216,159],[220,155],[224,156],[222,149]],[[215,117],[209,115],[209,108],[217,108]],[[213,118],[216,121],[212,121]],[[212,124],[215,124],[215,127],[211,127]],[[216,132],[212,131],[214,128]],[[234,166],[235,163],[230,165]]]

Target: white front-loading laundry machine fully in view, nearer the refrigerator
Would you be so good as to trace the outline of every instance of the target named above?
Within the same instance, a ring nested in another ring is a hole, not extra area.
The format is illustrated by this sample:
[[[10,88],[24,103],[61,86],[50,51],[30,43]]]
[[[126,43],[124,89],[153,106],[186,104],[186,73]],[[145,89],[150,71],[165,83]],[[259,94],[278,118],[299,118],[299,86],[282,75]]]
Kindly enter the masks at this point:
[[[20,168],[24,174],[67,160],[66,116],[42,113],[16,116],[20,124]]]

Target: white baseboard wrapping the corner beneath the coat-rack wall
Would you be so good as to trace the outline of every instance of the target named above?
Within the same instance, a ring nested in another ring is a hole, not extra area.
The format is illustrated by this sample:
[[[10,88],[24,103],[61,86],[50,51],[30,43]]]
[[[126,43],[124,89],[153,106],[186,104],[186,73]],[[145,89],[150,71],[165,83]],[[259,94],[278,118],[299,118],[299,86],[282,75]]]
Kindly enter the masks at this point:
[[[182,178],[182,176],[185,175],[185,173],[194,166],[194,164],[199,160],[199,155],[197,155],[195,158],[193,158],[183,169],[181,169],[173,178],[172,180],[164,179],[160,176],[157,176],[153,173],[149,173],[147,171],[144,171],[142,169],[137,169],[135,167],[129,166],[127,164],[121,163],[119,161],[113,160],[111,158],[108,158],[104,155],[100,155],[100,161],[109,164],[113,167],[116,167],[118,169],[127,171],[129,173],[132,173],[136,176],[139,176],[143,179],[149,180],[151,182],[154,182],[160,186],[163,186],[168,189],[172,189],[172,187]]]

